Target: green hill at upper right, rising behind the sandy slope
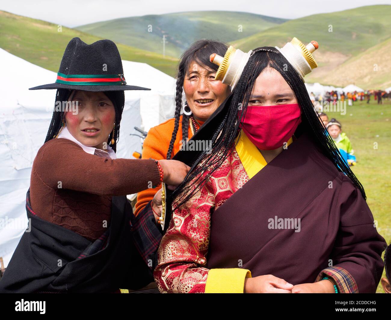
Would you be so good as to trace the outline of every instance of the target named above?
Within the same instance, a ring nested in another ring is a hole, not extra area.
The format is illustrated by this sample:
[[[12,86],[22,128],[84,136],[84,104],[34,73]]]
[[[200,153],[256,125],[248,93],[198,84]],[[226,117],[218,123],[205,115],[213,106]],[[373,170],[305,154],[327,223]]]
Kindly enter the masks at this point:
[[[281,46],[292,37],[319,49],[355,56],[391,36],[391,5],[370,5],[289,20],[247,38],[231,41],[244,50],[265,45]],[[332,25],[332,32],[329,32]]]

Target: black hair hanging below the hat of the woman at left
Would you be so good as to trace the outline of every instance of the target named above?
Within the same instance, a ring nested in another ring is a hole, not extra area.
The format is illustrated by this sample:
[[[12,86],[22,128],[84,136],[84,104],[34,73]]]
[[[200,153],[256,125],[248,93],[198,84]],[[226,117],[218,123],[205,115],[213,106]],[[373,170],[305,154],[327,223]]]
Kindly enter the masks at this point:
[[[69,89],[57,89],[56,92],[56,101],[68,101],[70,95],[72,93],[72,90]],[[117,141],[120,137],[120,122],[122,118],[122,111],[124,111],[124,105],[125,105],[125,93],[123,90],[121,91],[104,91],[103,92],[113,103],[114,109],[115,109],[115,130],[114,130],[114,140],[115,143],[111,144],[111,139],[113,138],[113,131],[111,131],[107,144],[110,145],[110,147],[114,150],[114,152],[117,151]],[[45,142],[48,142],[49,140],[52,140],[54,137],[56,137],[57,133],[60,131],[62,122],[64,119],[64,112],[62,111],[56,111],[54,109],[52,120],[50,122],[50,126],[48,129],[48,133],[46,135]]]

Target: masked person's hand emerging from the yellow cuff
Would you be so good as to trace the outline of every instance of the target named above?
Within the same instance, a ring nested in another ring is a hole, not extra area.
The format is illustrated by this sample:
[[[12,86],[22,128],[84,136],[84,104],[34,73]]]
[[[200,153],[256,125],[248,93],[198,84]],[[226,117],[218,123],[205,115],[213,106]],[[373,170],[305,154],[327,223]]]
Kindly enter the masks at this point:
[[[293,284],[274,275],[260,275],[244,280],[244,293],[292,293]]]

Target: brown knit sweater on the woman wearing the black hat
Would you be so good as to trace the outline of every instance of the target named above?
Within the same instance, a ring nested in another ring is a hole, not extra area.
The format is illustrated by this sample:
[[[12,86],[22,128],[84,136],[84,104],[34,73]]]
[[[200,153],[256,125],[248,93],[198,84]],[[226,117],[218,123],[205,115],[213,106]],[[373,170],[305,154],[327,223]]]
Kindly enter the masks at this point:
[[[90,241],[109,225],[111,197],[160,183],[154,160],[108,159],[86,153],[68,139],[52,139],[38,151],[31,170],[30,203],[42,219]]]

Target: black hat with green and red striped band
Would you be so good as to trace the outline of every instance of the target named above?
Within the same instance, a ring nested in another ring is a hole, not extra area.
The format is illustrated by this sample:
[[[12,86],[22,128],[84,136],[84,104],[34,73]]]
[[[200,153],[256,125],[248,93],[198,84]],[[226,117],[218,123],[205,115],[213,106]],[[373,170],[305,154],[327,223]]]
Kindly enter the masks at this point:
[[[82,91],[151,90],[126,84],[117,46],[111,40],[90,45],[73,38],[66,46],[55,83],[29,88]]]

